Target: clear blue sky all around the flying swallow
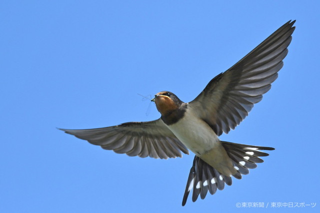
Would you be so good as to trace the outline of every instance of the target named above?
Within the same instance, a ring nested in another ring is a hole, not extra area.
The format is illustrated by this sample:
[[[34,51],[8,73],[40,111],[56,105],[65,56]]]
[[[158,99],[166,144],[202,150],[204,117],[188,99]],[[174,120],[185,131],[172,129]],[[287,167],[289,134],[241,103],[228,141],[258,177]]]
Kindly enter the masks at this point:
[[[319,11],[316,0],[1,1],[0,212],[318,212]],[[220,138],[275,150],[205,200],[181,207],[193,154],[128,157],[56,129],[157,119],[137,93],[190,101],[290,19],[278,79]]]

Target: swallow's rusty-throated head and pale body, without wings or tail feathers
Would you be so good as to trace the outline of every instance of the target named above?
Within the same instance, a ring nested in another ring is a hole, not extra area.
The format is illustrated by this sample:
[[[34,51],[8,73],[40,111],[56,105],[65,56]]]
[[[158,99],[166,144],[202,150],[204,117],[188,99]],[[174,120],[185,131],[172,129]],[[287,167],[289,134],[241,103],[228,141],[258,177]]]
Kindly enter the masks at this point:
[[[174,102],[169,98],[165,98],[167,96],[161,97],[161,94],[175,95],[168,91],[159,92],[155,95],[156,106],[161,106],[157,107],[162,115],[161,118],[168,120],[165,119],[165,114],[169,113],[167,117],[171,117],[171,120],[174,120],[174,122],[165,123],[175,137],[219,173],[226,176],[236,173],[217,135],[204,120],[199,118],[197,109],[192,108],[188,103]],[[170,113],[171,111],[176,112],[179,110],[183,113],[173,116]]]

